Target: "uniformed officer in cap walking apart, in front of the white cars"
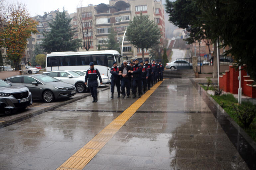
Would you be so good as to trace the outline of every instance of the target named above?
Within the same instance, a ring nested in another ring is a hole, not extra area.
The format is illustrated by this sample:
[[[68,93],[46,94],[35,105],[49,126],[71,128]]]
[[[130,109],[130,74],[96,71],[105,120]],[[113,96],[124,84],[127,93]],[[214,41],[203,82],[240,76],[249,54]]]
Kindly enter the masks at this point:
[[[87,85],[87,80],[88,80],[88,87],[90,88],[91,96],[93,97],[92,102],[97,102],[98,101],[98,98],[97,98],[98,81],[97,81],[97,79],[99,77],[99,81],[100,81],[101,85],[102,85],[102,80],[101,80],[101,76],[100,76],[98,69],[94,68],[93,62],[90,62],[89,66],[91,68],[89,68],[86,72],[84,84]]]

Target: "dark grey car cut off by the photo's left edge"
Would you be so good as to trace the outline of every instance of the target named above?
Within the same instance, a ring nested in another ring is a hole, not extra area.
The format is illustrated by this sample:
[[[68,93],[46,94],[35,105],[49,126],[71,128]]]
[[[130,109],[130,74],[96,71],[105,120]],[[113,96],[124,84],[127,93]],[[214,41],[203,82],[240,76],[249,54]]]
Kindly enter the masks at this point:
[[[24,109],[32,103],[27,87],[10,85],[0,79],[0,112]]]

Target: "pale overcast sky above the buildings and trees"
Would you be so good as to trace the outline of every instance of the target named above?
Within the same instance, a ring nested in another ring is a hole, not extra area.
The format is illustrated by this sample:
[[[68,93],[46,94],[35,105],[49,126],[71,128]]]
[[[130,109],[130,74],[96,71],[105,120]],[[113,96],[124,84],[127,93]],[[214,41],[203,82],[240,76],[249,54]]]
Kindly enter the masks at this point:
[[[37,15],[44,15],[44,12],[49,13],[55,11],[58,8],[63,11],[63,7],[69,14],[76,12],[76,8],[79,6],[80,0],[4,0],[6,3],[22,3],[26,4],[27,10],[31,17]],[[109,4],[109,0],[83,0],[83,6],[88,4],[98,5],[100,3]]]

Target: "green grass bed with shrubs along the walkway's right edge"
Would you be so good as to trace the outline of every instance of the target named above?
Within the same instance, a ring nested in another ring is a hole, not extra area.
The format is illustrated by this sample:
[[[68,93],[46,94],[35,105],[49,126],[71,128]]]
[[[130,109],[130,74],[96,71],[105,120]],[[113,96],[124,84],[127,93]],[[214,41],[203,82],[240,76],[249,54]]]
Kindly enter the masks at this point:
[[[206,87],[207,88],[207,87]],[[249,128],[244,128],[241,121],[238,119],[235,108],[238,107],[237,99],[232,94],[223,94],[220,96],[211,97],[227,112],[227,114],[241,127],[245,132],[256,141],[256,117],[253,119]],[[250,102],[242,102],[242,107],[253,107],[253,104]]]

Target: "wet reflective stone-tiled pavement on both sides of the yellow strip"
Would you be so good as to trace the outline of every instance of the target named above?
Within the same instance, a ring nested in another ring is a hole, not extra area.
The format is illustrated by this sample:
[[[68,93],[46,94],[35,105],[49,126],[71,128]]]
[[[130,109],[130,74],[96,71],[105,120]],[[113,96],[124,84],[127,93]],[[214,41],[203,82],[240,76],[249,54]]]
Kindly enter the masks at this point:
[[[57,169],[138,99],[110,95],[1,128],[0,169]],[[189,79],[165,80],[82,169],[248,170],[204,100]]]

